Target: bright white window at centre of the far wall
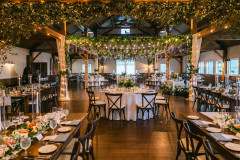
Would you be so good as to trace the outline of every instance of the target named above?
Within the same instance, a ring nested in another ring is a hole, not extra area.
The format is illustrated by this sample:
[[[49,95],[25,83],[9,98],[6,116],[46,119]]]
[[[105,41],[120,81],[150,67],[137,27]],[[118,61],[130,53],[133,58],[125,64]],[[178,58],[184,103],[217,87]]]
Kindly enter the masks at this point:
[[[134,60],[117,60],[117,74],[135,74],[135,61]]]

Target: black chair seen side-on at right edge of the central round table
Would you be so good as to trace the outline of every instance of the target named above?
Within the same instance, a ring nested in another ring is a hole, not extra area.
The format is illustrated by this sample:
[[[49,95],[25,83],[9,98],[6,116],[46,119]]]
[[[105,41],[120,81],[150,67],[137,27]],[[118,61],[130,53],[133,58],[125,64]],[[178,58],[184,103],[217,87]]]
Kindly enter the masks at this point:
[[[165,91],[163,92],[163,96],[165,97],[164,100],[156,100],[155,105],[156,105],[156,115],[158,115],[159,112],[159,107],[163,106],[163,111],[165,109],[166,116],[168,119],[168,113],[170,114],[170,107],[169,107],[169,101],[170,101],[170,96],[172,95],[172,91]]]

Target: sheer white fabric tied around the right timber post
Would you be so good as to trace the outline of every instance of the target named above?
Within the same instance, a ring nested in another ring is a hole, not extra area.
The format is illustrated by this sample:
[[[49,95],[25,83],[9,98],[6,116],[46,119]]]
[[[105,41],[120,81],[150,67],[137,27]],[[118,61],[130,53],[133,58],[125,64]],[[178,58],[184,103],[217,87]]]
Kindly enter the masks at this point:
[[[194,34],[192,36],[192,65],[194,65],[194,69],[197,69],[198,67],[198,61],[200,58],[200,49],[202,44],[202,38],[197,37],[197,34]],[[197,81],[197,78],[194,78],[194,81]],[[190,79],[190,88],[189,88],[189,100],[193,100],[193,87],[192,84],[196,84],[196,82],[193,82],[193,77]]]

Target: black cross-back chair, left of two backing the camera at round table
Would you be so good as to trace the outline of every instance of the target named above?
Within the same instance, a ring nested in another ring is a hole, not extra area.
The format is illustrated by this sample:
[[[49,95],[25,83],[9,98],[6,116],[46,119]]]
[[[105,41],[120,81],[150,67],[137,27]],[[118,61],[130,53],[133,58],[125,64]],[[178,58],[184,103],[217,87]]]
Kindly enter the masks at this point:
[[[119,113],[121,125],[122,125],[122,112],[124,120],[126,120],[125,117],[125,105],[122,105],[122,94],[113,94],[113,93],[105,93],[108,100],[108,119],[110,119],[110,114],[112,113],[112,120],[113,120],[113,114],[115,111]]]

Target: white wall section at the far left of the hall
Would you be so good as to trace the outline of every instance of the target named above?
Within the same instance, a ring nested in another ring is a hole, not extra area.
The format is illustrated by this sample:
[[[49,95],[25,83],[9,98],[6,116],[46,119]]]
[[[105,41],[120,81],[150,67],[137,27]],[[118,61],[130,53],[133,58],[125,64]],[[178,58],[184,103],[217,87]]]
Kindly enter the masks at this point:
[[[16,53],[12,55],[9,53]],[[26,67],[26,56],[29,54],[28,49],[13,47],[7,54],[7,61],[12,61],[13,64],[5,64],[0,74],[0,79],[16,78],[18,75],[23,74],[23,70]]]

